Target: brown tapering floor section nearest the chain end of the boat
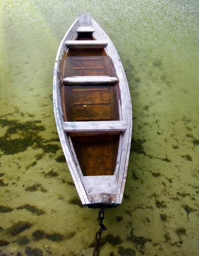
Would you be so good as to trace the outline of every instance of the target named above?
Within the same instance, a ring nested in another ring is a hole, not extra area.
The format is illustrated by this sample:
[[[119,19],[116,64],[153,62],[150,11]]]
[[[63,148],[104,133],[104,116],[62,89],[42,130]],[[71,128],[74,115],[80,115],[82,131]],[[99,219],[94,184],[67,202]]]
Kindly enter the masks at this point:
[[[113,175],[119,135],[71,137],[83,175]]]

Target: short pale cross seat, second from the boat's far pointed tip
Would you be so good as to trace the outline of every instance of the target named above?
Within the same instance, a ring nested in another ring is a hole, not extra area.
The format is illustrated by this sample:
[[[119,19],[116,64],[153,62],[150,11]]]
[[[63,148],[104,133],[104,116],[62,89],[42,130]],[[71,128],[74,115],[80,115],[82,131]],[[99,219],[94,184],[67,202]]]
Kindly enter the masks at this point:
[[[102,40],[68,40],[65,42],[65,45],[69,48],[101,48],[107,45],[107,41]]]

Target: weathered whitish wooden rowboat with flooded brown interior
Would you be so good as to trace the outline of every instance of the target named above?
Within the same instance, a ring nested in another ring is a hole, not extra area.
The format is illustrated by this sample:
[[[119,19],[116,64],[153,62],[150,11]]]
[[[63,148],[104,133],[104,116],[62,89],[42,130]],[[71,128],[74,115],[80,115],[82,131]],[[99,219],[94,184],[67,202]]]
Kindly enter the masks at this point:
[[[89,13],[79,15],[58,49],[53,104],[82,204],[121,204],[131,145],[131,97],[119,55]]]

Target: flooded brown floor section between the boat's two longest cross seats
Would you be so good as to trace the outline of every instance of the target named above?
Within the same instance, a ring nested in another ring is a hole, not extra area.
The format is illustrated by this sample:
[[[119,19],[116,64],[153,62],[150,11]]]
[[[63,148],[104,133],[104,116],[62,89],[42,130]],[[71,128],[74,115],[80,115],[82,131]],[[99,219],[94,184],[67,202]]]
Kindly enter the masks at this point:
[[[63,88],[67,121],[119,120],[117,94],[111,93],[116,91],[114,85],[65,85]]]

